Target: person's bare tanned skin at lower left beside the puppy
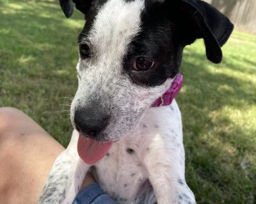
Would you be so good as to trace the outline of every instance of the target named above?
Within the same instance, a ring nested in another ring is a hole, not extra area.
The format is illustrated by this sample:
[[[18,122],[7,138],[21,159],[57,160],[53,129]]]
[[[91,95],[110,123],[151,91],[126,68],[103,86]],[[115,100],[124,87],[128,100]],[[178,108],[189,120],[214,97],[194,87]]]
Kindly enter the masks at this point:
[[[33,203],[65,148],[15,108],[0,108],[0,203]],[[95,182],[86,175],[83,187]]]

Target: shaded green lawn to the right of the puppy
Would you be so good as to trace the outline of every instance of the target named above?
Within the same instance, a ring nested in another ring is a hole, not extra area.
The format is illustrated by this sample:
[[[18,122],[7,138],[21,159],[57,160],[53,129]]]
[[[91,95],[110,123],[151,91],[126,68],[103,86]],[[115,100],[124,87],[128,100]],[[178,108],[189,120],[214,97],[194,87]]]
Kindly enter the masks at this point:
[[[186,177],[198,203],[254,203],[256,198],[255,129],[237,126],[225,108],[243,110],[255,104],[255,84],[218,72],[251,72],[229,62],[213,67],[205,55],[188,50],[182,72],[184,91],[178,101],[184,122]],[[216,72],[217,70],[217,72]]]

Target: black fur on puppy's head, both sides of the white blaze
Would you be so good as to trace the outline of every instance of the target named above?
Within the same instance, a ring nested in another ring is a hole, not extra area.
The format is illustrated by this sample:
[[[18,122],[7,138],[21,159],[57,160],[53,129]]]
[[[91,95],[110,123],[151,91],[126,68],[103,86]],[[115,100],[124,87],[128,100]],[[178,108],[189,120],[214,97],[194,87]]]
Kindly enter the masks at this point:
[[[86,41],[86,33],[92,29],[95,16],[107,1],[93,0],[90,9],[83,10],[83,6],[78,8],[86,15],[86,24],[79,41]],[[124,1],[129,3],[134,0]],[[132,40],[122,61],[124,73],[129,75],[132,82],[152,87],[175,77],[179,72],[184,47],[198,38],[205,40],[208,59],[215,63],[221,61],[220,45],[230,36],[232,24],[203,1],[184,2],[145,1],[145,11],[141,13],[141,31]],[[135,71],[132,67],[136,57],[147,57],[156,63],[146,71]]]

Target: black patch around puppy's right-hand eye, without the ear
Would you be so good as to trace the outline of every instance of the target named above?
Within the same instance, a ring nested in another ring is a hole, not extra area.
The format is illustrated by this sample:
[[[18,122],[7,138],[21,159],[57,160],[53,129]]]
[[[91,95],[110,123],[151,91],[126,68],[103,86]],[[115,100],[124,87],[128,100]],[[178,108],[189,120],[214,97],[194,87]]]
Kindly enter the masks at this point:
[[[124,59],[124,69],[139,85],[156,86],[179,72],[184,43],[179,39],[177,21],[170,9],[154,4],[141,13],[141,32],[134,38]],[[155,65],[147,71],[132,69],[137,57],[147,57]]]

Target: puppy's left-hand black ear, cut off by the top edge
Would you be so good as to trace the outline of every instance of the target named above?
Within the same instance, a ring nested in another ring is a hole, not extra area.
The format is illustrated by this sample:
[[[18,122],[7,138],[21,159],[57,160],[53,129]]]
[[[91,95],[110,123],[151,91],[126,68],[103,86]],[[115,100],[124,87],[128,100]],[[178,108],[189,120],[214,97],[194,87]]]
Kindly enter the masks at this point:
[[[91,6],[92,0],[73,0],[73,2],[76,4],[77,10],[81,11],[85,15]],[[67,18],[70,18],[73,14],[73,2],[72,0],[60,0],[61,9]]]

